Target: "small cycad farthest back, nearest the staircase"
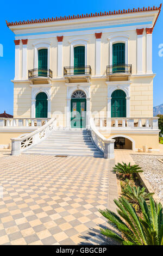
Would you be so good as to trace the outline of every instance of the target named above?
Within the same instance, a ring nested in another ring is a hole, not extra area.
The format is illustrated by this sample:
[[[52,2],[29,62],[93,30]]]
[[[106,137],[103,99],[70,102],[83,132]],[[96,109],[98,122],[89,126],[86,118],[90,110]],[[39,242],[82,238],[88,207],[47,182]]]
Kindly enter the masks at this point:
[[[131,174],[143,172],[143,170],[141,169],[141,167],[139,167],[139,165],[134,164],[133,166],[131,166],[130,163],[127,164],[124,162],[117,163],[113,168],[113,171],[122,174],[124,178],[127,178],[127,179],[130,179]]]

